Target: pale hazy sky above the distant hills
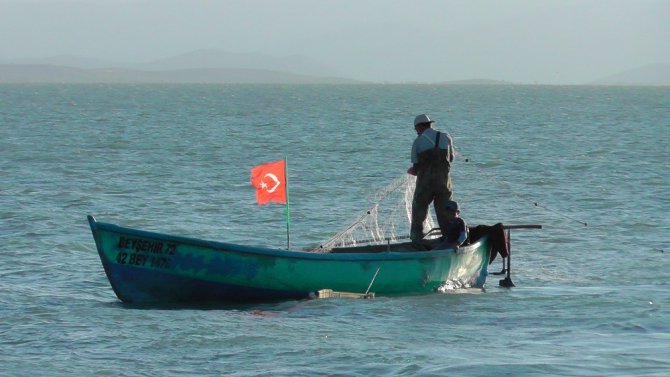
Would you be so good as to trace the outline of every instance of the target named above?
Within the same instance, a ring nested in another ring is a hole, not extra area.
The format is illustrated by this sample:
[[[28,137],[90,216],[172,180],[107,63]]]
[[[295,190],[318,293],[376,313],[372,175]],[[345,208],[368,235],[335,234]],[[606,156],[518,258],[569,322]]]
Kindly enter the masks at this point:
[[[198,49],[369,81],[581,84],[670,63],[670,0],[0,0],[0,61]]]

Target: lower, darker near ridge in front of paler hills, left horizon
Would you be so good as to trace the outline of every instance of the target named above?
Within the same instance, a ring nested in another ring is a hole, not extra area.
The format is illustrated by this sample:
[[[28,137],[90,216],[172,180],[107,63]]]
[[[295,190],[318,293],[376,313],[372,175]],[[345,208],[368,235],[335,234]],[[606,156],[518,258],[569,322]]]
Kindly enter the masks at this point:
[[[264,69],[203,68],[147,71],[125,68],[85,69],[44,64],[0,64],[0,83],[356,84],[360,82]]]

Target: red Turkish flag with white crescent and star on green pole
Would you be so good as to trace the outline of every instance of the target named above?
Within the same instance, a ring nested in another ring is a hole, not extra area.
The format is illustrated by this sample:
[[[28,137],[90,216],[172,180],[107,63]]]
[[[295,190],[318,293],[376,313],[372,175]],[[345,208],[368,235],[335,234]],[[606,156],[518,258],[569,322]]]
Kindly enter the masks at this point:
[[[251,184],[256,187],[256,203],[286,203],[286,161],[269,162],[252,168]]]

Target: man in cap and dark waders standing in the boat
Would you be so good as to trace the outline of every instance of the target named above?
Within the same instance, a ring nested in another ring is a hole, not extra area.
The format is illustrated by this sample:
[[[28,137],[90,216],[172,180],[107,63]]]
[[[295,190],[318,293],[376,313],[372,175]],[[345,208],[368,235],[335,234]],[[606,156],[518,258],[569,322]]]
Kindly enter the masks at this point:
[[[412,167],[407,173],[416,175],[410,227],[410,238],[416,244],[424,237],[423,222],[431,202],[442,234],[446,234],[449,221],[447,202],[452,199],[449,169],[454,160],[454,146],[451,136],[433,129],[433,123],[426,114],[414,118],[417,137],[412,144]]]

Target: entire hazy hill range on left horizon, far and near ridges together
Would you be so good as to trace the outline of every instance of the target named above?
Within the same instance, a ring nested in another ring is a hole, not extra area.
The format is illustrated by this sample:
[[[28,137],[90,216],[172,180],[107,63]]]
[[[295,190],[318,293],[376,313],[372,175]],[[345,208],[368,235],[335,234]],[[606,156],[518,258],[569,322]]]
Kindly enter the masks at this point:
[[[353,84],[301,55],[273,57],[197,50],[145,63],[73,55],[0,61],[0,83],[240,83]]]

